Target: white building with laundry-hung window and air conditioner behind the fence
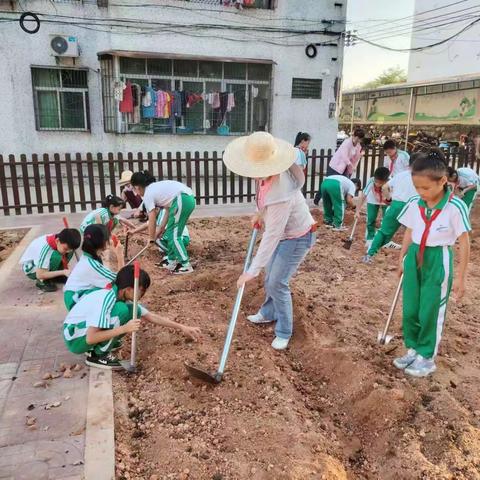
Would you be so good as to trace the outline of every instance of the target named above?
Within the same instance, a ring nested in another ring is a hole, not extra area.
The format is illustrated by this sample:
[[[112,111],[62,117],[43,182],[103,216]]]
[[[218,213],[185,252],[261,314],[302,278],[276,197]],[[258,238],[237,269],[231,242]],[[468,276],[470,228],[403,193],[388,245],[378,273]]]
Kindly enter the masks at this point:
[[[0,153],[221,151],[232,135],[255,130],[291,142],[307,131],[315,146],[333,146],[343,58],[334,32],[346,1],[226,3],[1,2],[11,21],[0,22]],[[27,5],[40,20],[35,34],[18,21]],[[309,58],[306,46],[319,42],[328,45]],[[203,98],[176,105],[170,118],[163,105],[122,113],[132,108],[127,84]]]

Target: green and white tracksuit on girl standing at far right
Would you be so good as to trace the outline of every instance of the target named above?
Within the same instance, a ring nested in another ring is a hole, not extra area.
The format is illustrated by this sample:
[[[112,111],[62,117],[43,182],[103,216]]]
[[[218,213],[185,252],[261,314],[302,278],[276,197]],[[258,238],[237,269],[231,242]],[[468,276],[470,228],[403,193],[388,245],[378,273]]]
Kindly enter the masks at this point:
[[[404,259],[403,276],[403,337],[405,346],[424,358],[438,352],[445,323],[448,298],[453,281],[453,245],[464,232],[471,230],[468,210],[457,197],[449,200],[450,192],[433,208],[426,208],[420,197],[412,198],[400,212],[398,220],[412,230],[412,244]],[[436,210],[427,237],[423,263],[418,254],[425,221]]]

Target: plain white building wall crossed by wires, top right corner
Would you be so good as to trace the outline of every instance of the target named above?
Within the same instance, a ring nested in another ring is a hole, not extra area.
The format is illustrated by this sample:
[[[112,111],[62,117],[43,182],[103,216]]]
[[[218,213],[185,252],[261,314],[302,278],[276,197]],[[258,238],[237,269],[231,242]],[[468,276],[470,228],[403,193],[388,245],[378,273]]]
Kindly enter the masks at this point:
[[[441,8],[452,3],[451,0],[416,0],[416,19],[413,25],[412,48],[429,45],[448,38],[478,18],[478,1],[469,0],[448,8]],[[418,15],[419,12],[438,8],[441,9]],[[451,23],[450,25],[440,25],[440,23],[449,23],[455,20],[463,21]],[[426,29],[434,26],[435,28]],[[448,43],[424,51],[410,53],[408,64],[409,82],[423,82],[450,76],[478,73],[480,73],[480,23],[477,23]]]

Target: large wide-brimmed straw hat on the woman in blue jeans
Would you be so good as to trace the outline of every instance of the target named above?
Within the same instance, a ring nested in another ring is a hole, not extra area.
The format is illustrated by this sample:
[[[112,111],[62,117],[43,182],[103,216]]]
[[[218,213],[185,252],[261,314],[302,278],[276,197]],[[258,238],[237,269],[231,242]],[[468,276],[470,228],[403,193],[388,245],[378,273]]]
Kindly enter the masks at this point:
[[[293,165],[295,149],[267,132],[255,132],[230,142],[223,153],[223,162],[242,177],[270,177]]]

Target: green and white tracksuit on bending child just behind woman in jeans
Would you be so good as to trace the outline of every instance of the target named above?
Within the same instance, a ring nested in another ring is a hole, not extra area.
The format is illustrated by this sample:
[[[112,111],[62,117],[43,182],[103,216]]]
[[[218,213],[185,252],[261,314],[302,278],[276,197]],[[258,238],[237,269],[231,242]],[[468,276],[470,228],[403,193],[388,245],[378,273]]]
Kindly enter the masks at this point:
[[[326,177],[320,187],[323,204],[323,221],[341,227],[345,216],[345,197],[355,196],[355,184],[343,175]]]

